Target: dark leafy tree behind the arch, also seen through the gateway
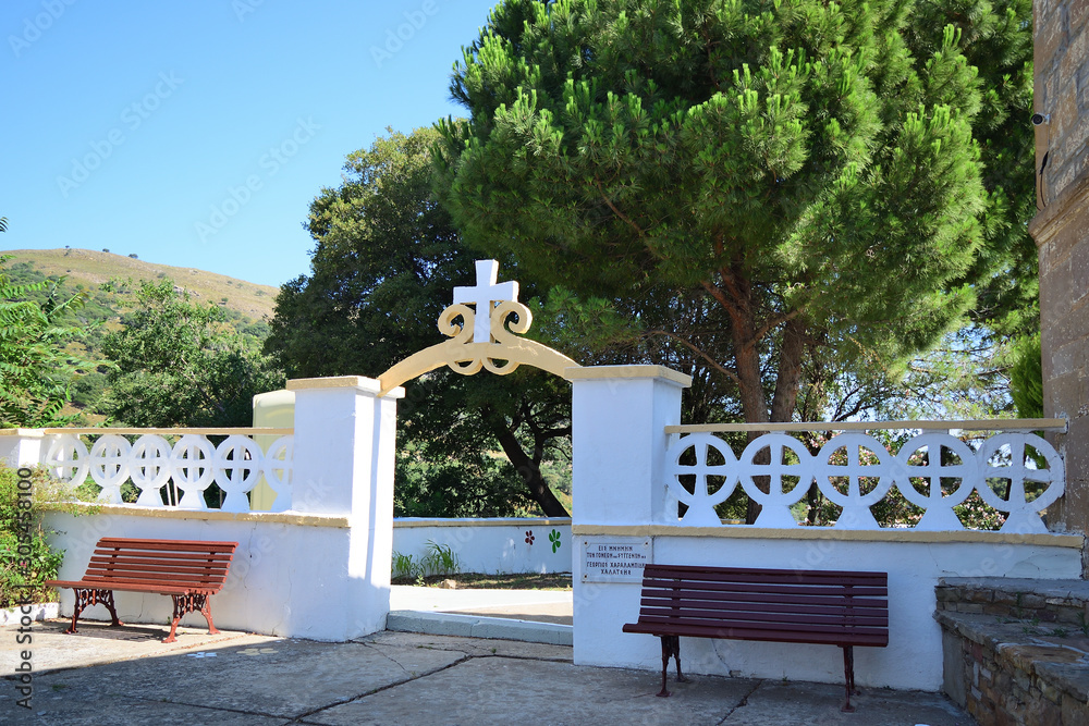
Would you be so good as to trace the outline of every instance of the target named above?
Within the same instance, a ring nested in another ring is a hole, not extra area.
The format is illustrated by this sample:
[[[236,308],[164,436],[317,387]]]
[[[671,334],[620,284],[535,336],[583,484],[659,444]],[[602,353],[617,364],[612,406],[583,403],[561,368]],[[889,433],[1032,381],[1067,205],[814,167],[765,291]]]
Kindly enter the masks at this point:
[[[390,131],[350,155],[343,183],[311,204],[311,273],[281,288],[266,344],[291,376],[377,377],[444,340],[436,322],[453,287],[474,284],[476,258],[432,198],[437,140],[432,128]],[[400,514],[495,516],[536,504],[566,516],[542,473],[570,434],[565,381],[437,370],[405,386]],[[499,450],[509,465],[491,455]]]

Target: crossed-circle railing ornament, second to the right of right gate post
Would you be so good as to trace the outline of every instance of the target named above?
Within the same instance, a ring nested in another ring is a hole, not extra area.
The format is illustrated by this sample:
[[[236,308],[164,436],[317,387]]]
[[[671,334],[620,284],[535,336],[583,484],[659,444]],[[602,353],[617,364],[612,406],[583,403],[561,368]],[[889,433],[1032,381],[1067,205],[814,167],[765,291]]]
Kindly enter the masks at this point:
[[[769,450],[770,464],[756,464],[760,452]],[[784,453],[792,452],[797,458],[796,464],[784,464]],[[797,504],[813,479],[812,456],[805,445],[785,433],[767,433],[759,436],[742,452],[737,464],[738,479],[742,489],[762,508],[756,519],[757,527],[797,527],[798,522],[791,514],[791,506]],[[757,487],[755,477],[768,477],[767,492]],[[788,492],[783,491],[783,477],[797,477],[798,482]]]

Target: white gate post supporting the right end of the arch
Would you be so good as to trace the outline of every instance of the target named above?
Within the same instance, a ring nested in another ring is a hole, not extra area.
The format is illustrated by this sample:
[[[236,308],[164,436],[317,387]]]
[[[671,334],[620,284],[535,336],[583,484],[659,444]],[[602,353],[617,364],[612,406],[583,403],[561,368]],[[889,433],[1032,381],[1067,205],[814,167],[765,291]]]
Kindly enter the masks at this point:
[[[585,557],[599,546],[651,552],[639,530],[658,521],[665,505],[665,427],[681,422],[681,394],[692,378],[661,366],[568,368],[564,374],[572,382],[575,663],[631,662],[617,649],[646,644],[621,632],[638,617],[641,570],[615,578],[584,574]]]

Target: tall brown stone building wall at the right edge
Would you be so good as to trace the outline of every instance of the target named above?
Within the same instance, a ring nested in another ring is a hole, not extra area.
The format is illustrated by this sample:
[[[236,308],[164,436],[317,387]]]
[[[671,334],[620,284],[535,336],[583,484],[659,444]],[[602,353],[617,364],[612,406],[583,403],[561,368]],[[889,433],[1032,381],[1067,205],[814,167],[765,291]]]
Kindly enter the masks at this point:
[[[1089,2],[1037,0],[1038,204],[1029,232],[1040,254],[1044,415],[1066,417],[1053,443],[1066,462],[1057,531],[1089,531]],[[1026,120],[1028,122],[1028,120]],[[1047,164],[1044,165],[1044,158]]]

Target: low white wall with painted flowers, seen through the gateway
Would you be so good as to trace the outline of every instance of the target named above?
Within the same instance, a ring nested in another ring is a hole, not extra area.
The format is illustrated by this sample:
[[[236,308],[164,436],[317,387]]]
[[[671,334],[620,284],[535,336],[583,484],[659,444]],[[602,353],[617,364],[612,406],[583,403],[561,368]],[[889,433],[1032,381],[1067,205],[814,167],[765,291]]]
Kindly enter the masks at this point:
[[[449,546],[458,570],[486,575],[572,571],[571,519],[393,520],[393,551],[425,557],[428,542]]]

